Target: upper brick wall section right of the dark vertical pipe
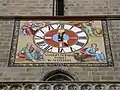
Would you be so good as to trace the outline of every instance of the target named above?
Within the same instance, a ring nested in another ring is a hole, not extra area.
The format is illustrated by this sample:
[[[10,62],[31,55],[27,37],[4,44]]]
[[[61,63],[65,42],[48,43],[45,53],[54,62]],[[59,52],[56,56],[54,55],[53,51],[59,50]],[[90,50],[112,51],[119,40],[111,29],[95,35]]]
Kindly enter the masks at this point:
[[[119,0],[65,0],[65,16],[119,14]]]

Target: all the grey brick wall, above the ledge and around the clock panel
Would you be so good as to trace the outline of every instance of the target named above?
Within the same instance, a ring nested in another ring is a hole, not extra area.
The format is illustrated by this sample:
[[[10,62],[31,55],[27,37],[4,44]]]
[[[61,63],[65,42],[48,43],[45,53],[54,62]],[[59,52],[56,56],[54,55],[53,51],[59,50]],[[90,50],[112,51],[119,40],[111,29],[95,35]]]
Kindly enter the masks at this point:
[[[65,15],[118,15],[119,0],[65,0]],[[0,0],[0,16],[50,16],[52,0]],[[0,19],[0,82],[41,81],[56,67],[7,67],[14,20]],[[76,81],[120,80],[120,20],[108,21],[115,67],[61,68]]]

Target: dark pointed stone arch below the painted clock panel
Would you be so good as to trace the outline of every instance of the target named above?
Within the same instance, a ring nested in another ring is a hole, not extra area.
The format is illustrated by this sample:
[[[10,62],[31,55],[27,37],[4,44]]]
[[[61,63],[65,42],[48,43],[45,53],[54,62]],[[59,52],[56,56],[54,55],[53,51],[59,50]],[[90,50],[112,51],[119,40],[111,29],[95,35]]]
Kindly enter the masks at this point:
[[[64,70],[49,72],[43,77],[43,81],[74,81],[75,79]]]

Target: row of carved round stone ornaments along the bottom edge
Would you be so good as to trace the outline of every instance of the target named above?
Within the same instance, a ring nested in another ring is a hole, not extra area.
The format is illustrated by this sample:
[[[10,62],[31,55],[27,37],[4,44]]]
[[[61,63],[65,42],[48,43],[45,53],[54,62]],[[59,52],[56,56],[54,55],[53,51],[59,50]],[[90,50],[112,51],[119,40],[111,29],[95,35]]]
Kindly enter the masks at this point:
[[[62,88],[62,89],[61,89]],[[110,82],[1,82],[0,90],[120,90]]]

